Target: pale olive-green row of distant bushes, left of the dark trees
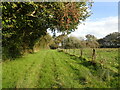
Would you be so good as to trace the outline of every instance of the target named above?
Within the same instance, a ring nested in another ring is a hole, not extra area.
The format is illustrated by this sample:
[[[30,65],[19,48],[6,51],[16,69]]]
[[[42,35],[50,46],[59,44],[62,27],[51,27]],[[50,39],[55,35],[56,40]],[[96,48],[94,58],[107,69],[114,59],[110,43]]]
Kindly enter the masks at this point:
[[[97,39],[93,39],[91,37],[87,37],[87,40],[80,40],[77,37],[66,37],[62,41],[62,47],[66,49],[72,49],[72,48],[96,48],[99,47],[99,43],[96,41]]]

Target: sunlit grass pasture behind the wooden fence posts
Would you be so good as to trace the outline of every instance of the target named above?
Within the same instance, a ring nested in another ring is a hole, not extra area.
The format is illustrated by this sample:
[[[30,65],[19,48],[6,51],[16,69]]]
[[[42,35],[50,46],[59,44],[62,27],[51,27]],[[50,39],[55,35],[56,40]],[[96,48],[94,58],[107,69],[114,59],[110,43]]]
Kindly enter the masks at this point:
[[[77,57],[80,57],[80,49],[70,49],[70,50],[64,50],[64,52],[75,55]],[[87,59],[87,61],[92,60],[92,53],[93,50],[91,48],[85,48],[83,49],[83,55],[82,57]],[[97,48],[96,49],[96,55],[95,55],[95,61],[98,63],[103,64],[104,66],[110,68],[114,72],[118,72],[118,49],[116,48]]]

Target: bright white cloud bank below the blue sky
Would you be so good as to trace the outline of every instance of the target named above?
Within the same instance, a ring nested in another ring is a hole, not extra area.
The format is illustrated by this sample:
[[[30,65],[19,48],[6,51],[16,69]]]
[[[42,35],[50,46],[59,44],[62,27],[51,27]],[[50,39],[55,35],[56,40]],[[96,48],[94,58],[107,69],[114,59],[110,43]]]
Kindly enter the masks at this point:
[[[79,25],[75,32],[70,35],[84,37],[87,34],[102,38],[112,32],[118,32],[118,17],[107,17],[96,19],[96,21],[86,21],[85,25]]]

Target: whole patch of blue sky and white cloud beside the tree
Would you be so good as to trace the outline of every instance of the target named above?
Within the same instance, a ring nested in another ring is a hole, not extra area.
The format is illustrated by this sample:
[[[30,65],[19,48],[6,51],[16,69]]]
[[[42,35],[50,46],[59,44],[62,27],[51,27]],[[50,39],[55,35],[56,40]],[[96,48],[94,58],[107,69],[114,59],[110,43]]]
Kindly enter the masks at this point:
[[[85,37],[87,34],[103,38],[109,33],[118,32],[118,2],[94,2],[92,15],[70,36]]]

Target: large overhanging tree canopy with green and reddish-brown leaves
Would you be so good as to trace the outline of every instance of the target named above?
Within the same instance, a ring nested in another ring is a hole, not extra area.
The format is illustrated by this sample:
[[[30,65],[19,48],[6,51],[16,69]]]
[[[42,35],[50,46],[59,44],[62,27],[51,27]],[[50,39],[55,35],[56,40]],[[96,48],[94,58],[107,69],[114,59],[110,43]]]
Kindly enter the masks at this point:
[[[2,2],[3,53],[33,49],[47,29],[68,34],[90,16],[88,2]]]

